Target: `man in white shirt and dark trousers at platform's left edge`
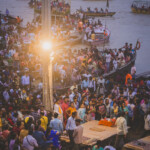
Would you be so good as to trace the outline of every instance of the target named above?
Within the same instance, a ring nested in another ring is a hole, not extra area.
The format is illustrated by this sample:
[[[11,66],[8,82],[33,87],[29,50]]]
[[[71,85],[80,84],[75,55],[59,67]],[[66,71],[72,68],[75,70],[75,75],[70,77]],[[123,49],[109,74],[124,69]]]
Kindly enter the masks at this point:
[[[72,116],[70,116],[67,120],[67,125],[66,125],[66,130],[69,134],[69,139],[70,139],[70,144],[71,144],[71,147],[74,146],[74,139],[73,139],[73,133],[74,133],[74,130],[76,128],[76,123],[75,123],[75,118],[77,116],[77,112],[73,112],[72,113]]]

